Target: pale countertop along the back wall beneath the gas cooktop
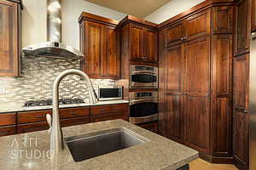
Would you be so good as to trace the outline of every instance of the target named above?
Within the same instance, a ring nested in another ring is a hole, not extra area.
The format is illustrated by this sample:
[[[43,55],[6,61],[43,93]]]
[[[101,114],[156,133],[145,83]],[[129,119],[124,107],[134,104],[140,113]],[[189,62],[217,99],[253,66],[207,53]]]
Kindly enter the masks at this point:
[[[60,105],[60,108],[70,108],[70,107],[86,107],[93,105],[114,105],[114,104],[125,104],[129,103],[128,100],[119,99],[119,100],[109,100],[109,101],[99,101],[96,104],[73,104],[73,105]],[[49,110],[52,109],[52,106],[34,106],[34,107],[23,107],[23,105],[18,105],[15,103],[0,104],[0,114],[7,112],[17,112],[17,111],[40,111],[40,110]]]

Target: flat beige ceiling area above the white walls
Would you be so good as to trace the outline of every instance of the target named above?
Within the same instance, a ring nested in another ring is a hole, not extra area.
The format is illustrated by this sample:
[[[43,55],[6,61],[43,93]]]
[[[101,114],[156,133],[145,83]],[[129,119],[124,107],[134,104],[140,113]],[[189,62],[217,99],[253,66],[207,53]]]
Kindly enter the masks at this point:
[[[157,8],[170,2],[170,0],[84,0],[96,3],[103,7],[112,8],[125,14],[131,14],[138,18],[144,18]]]

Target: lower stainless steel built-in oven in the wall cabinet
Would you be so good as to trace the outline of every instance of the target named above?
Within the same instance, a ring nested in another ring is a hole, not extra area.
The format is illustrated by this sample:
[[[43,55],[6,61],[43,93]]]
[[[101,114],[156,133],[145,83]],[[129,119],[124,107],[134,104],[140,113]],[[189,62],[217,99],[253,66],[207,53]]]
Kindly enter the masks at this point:
[[[158,120],[158,92],[130,92],[130,122],[133,124]]]

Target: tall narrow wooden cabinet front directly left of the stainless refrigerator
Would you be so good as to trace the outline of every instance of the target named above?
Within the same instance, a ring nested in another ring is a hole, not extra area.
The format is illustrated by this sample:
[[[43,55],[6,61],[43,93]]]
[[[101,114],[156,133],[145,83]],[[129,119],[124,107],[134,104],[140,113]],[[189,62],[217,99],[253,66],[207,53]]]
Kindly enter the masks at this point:
[[[234,58],[234,162],[241,169],[248,168],[249,157],[249,54]]]

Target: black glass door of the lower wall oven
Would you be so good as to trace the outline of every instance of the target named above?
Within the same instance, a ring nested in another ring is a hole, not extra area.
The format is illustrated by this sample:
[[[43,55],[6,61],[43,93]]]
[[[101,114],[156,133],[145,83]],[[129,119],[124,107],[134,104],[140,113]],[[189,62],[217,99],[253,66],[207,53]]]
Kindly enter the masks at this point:
[[[152,116],[158,113],[158,103],[156,102],[142,102],[130,105],[131,117]]]

